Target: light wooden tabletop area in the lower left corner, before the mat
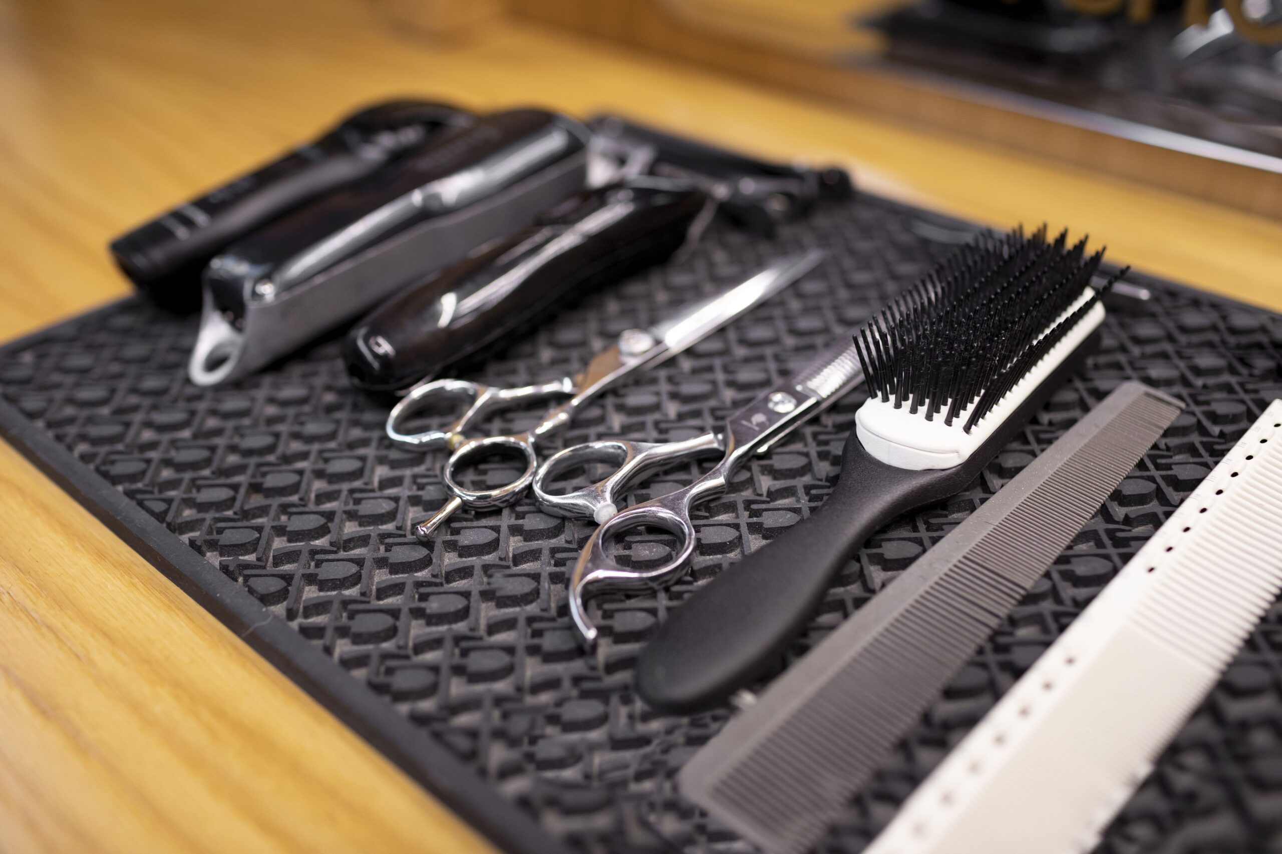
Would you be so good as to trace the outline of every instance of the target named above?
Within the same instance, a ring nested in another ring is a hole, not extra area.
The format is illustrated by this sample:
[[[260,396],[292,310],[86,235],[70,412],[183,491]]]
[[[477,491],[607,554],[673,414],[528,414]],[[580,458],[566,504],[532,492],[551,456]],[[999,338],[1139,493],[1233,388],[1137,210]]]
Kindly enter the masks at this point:
[[[8,445],[0,650],[0,850],[490,850]]]

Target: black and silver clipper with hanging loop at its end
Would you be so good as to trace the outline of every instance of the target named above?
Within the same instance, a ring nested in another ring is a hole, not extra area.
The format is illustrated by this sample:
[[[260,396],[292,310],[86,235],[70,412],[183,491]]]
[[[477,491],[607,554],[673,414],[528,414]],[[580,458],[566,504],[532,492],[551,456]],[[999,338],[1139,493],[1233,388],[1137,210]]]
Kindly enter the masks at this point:
[[[591,135],[565,115],[478,118],[215,256],[188,374],[244,377],[582,190]]]

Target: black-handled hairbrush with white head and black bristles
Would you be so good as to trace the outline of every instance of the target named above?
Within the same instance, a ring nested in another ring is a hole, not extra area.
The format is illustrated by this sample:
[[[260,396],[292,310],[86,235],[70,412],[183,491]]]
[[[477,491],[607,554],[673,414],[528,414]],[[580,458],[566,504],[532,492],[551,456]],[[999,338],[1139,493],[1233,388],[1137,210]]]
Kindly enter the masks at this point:
[[[1100,299],[1126,272],[1091,289],[1103,258],[1103,249],[1087,254],[1085,239],[1068,245],[1067,232],[1047,240],[1045,226],[1032,235],[985,233],[860,330],[851,345],[869,387],[860,418],[872,423],[877,410],[894,408],[929,430],[954,431],[947,437],[962,441],[960,462],[920,468],[918,450],[896,448],[894,431],[869,433],[869,450],[853,430],[824,504],[713,578],[659,627],[637,662],[642,699],[665,712],[697,712],[764,676],[872,533],[965,489],[1094,345]],[[1090,333],[1055,353],[1041,382],[1017,389],[1085,324]]]

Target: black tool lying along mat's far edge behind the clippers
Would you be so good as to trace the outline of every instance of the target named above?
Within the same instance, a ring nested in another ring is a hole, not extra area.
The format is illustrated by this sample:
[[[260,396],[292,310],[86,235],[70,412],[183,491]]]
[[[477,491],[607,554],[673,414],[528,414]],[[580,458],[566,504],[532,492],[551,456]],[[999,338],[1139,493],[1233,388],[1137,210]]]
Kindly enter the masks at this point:
[[[756,233],[772,235],[777,224],[800,219],[820,199],[854,195],[854,182],[840,167],[759,160],[618,115],[599,115],[591,127],[604,154],[691,182],[715,199],[718,212],[735,226]]]

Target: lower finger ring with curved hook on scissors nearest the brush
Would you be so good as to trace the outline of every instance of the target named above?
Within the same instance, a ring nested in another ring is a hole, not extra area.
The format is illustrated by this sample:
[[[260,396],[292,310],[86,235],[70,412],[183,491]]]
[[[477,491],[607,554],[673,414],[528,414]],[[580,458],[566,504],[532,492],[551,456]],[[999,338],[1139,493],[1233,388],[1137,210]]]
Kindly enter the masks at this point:
[[[683,572],[695,551],[695,526],[690,522],[686,508],[687,492],[688,490],[679,490],[628,508],[608,519],[588,539],[569,577],[569,615],[586,646],[591,648],[597,636],[596,626],[587,615],[588,599],[612,590],[662,587]],[[663,528],[681,537],[681,545],[663,565],[633,569],[619,565],[605,553],[605,544],[613,537],[641,526]]]

